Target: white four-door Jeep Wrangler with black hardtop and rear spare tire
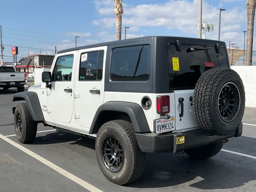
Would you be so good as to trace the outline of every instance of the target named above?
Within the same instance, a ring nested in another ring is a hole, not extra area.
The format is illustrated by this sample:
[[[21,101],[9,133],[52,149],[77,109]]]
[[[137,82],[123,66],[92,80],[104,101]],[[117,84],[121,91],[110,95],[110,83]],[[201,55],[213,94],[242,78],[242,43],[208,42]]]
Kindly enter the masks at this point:
[[[230,69],[226,44],[152,36],[58,52],[50,72],[13,101],[22,143],[37,124],[96,139],[104,176],[115,184],[140,178],[145,152],[216,155],[242,134],[245,94]]]

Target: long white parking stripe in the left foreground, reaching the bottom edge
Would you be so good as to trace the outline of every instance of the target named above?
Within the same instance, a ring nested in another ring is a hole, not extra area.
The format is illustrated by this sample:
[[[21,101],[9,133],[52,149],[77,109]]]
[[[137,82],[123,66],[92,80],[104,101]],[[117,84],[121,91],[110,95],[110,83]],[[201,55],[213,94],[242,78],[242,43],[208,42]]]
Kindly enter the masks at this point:
[[[11,144],[12,146],[22,150],[23,152],[25,152],[26,154],[32,156],[33,158],[35,158],[36,160],[42,162],[43,164],[45,164],[46,166],[52,168],[53,170],[55,170],[56,172],[62,174],[63,176],[65,176],[66,178],[76,182],[77,184],[79,184],[80,186],[84,187],[85,189],[91,191],[91,192],[102,192],[102,190],[94,187],[93,185],[87,183],[86,181],[78,178],[77,176],[71,174],[70,172],[67,172],[66,170],[60,168],[59,166],[57,166],[56,164],[46,160],[45,158],[39,156],[38,154],[28,150],[27,148],[21,146],[20,144],[10,140],[9,138],[7,138],[6,136],[3,136],[2,134],[0,134],[0,138],[2,140],[5,140],[6,142],[8,142],[9,144]]]

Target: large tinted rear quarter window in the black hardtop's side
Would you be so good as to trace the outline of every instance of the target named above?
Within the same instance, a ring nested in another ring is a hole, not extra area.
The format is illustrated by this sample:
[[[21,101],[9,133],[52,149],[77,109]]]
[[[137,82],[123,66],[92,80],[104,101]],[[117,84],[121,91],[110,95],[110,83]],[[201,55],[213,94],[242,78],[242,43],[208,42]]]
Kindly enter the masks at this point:
[[[113,81],[146,81],[150,73],[150,46],[114,48],[111,74]]]

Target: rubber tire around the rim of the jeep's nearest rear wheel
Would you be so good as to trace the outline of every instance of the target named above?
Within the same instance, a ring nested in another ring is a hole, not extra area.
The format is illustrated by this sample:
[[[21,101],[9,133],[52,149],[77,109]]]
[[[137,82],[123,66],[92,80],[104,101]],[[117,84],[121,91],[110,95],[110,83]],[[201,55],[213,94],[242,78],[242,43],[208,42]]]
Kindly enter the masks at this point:
[[[103,160],[102,147],[108,137],[116,137],[123,148],[123,164],[118,172],[112,172]],[[138,180],[145,168],[145,154],[138,146],[133,126],[125,120],[113,120],[103,124],[98,131],[96,143],[96,156],[102,174],[118,185],[128,184]]]

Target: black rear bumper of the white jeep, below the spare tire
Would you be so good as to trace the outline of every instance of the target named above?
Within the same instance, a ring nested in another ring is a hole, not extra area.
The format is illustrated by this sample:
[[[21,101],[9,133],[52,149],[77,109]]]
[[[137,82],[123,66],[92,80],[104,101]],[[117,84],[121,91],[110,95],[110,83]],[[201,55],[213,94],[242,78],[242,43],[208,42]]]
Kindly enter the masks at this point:
[[[242,135],[242,122],[240,122],[237,130],[225,136],[208,136],[202,130],[193,130],[182,133],[169,133],[156,135],[154,133],[136,133],[138,145],[143,152],[182,152],[184,149],[194,148],[210,144],[213,142],[225,140],[231,137],[238,137]],[[176,138],[184,136],[185,142],[177,144]]]

